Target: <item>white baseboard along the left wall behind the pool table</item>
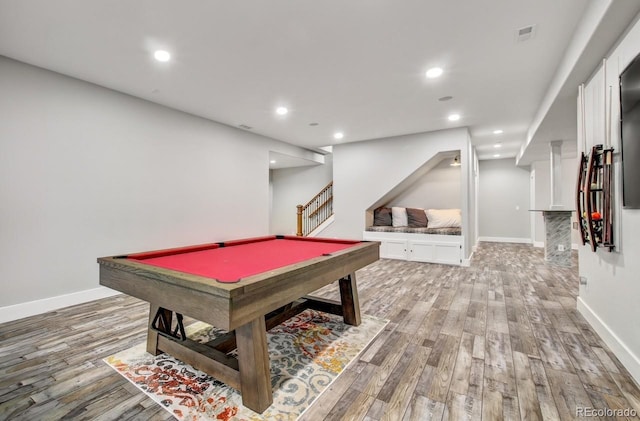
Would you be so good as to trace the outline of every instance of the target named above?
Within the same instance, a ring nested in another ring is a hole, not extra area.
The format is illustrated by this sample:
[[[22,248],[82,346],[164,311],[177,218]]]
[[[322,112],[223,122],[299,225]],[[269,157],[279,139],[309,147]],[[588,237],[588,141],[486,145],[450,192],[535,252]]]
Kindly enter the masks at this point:
[[[42,314],[48,311],[58,310],[63,307],[86,303],[88,301],[99,300],[100,298],[107,298],[117,294],[120,294],[120,292],[107,287],[98,287],[71,294],[44,298],[42,300],[28,301],[26,303],[0,307],[0,323],[35,316],[36,314]]]

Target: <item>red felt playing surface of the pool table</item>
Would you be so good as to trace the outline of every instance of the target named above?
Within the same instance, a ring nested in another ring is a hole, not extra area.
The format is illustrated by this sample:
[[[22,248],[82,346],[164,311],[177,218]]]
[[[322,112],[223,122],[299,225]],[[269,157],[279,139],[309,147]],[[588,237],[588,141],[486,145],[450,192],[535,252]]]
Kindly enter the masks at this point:
[[[229,243],[163,250],[127,258],[165,269],[237,282],[251,275],[331,254],[359,241],[270,236]]]

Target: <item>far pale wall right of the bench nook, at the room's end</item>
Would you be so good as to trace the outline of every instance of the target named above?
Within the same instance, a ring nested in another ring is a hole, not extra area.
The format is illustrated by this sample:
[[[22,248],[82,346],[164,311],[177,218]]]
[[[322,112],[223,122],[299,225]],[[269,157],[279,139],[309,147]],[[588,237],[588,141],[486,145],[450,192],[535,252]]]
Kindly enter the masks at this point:
[[[515,159],[480,161],[480,239],[530,241],[529,171]]]

